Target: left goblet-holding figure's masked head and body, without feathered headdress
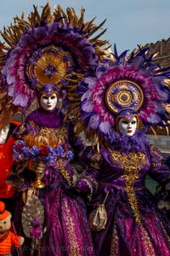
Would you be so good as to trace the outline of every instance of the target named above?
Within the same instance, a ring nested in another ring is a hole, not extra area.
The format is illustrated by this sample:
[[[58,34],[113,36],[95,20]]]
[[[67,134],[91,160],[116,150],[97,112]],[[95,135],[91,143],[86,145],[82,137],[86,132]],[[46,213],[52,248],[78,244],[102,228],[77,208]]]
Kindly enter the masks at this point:
[[[14,132],[14,172],[23,180],[25,203],[22,229],[41,239],[41,255],[94,255],[85,205],[71,192],[76,182],[71,160],[78,163],[81,140],[63,123],[54,85],[43,85],[37,98],[40,107]]]

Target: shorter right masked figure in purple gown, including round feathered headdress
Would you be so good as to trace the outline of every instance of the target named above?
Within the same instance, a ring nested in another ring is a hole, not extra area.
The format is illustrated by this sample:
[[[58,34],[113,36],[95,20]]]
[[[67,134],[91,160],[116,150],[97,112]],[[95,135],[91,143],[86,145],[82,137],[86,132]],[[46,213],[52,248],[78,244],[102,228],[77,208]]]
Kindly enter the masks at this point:
[[[145,187],[146,174],[166,186],[170,170],[161,152],[144,135],[152,125],[165,125],[170,89],[162,70],[138,49],[115,61],[101,61],[94,76],[77,86],[82,112],[79,130],[95,147],[84,154],[87,172],[77,188],[99,189],[89,203],[89,222],[97,255],[166,256],[170,254],[170,222]],[[78,99],[77,99],[78,102]],[[76,107],[72,109],[76,112]],[[81,126],[82,125],[82,126]]]

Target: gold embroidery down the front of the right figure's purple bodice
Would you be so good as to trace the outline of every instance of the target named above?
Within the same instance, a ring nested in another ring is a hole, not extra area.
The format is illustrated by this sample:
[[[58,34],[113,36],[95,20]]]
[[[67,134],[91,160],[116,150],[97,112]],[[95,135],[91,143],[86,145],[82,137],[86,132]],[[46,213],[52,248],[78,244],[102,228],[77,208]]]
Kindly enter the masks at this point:
[[[111,151],[111,157],[115,160],[116,164],[120,163],[124,173],[122,177],[126,182],[126,190],[128,201],[133,210],[134,218],[137,223],[140,223],[139,217],[139,203],[133,190],[133,185],[136,179],[139,178],[139,170],[144,165],[145,155],[141,152],[131,152],[126,155],[122,155],[119,151]]]

